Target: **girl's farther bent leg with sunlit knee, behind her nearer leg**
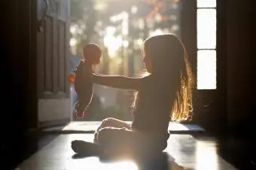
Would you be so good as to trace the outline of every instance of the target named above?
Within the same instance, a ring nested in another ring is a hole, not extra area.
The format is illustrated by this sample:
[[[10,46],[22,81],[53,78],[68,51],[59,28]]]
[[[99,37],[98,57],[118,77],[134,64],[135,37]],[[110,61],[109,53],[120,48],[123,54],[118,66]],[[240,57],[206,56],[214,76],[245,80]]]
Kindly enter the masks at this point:
[[[126,123],[125,121],[120,121],[116,118],[105,118],[102,120],[102,124],[98,127],[98,129],[94,133],[94,143],[98,143],[98,135],[99,135],[99,130],[102,130],[102,128],[105,127],[116,127],[116,128],[126,128],[130,129],[130,124]]]

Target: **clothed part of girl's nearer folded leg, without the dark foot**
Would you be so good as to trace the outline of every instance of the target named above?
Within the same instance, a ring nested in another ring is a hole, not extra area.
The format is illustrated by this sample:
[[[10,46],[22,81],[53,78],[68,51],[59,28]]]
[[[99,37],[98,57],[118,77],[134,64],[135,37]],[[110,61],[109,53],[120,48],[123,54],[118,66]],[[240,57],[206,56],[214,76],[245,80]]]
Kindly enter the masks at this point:
[[[148,157],[161,153],[167,143],[153,134],[106,127],[99,130],[99,145],[102,145],[105,151],[117,155]]]

